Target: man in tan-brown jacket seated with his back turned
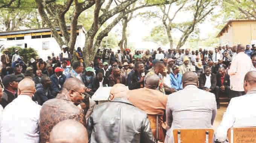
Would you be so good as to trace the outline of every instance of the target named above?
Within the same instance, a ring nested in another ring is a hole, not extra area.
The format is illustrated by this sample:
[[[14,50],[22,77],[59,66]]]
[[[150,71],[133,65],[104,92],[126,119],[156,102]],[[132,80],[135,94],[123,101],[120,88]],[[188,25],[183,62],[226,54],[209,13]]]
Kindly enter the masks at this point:
[[[165,114],[167,97],[163,95],[160,91],[157,91],[159,84],[159,78],[157,75],[149,75],[145,79],[145,87],[130,90],[127,93],[128,100],[133,103],[134,106],[148,114],[148,119],[150,121],[151,130],[156,138],[156,121],[157,115],[159,115],[160,124],[158,130],[159,141],[163,142],[165,140],[165,135],[163,132],[163,115]],[[140,96],[138,96],[140,95]]]

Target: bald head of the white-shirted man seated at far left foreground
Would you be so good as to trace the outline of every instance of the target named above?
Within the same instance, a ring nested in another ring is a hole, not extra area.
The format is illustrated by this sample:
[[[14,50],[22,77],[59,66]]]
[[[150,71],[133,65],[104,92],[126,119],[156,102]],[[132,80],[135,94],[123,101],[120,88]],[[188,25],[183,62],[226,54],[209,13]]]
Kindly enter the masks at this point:
[[[25,94],[33,96],[35,93],[35,82],[32,79],[24,78],[18,84],[18,95]]]

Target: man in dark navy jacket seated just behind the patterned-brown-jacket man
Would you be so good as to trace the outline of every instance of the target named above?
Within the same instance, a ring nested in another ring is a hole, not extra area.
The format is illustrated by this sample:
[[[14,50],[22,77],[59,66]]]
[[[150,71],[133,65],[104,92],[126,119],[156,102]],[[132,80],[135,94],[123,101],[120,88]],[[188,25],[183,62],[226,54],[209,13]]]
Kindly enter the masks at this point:
[[[43,105],[48,99],[52,99],[53,96],[50,91],[50,86],[52,81],[47,75],[43,75],[41,78],[42,84],[37,84],[36,92],[34,95],[34,101],[36,101],[39,105]]]

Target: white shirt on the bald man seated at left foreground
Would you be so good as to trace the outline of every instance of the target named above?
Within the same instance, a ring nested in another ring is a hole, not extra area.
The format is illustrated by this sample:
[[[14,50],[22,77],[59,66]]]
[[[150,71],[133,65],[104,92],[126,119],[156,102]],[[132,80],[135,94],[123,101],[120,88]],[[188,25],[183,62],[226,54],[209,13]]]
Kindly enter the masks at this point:
[[[39,143],[41,106],[27,95],[19,95],[3,110],[1,143]]]

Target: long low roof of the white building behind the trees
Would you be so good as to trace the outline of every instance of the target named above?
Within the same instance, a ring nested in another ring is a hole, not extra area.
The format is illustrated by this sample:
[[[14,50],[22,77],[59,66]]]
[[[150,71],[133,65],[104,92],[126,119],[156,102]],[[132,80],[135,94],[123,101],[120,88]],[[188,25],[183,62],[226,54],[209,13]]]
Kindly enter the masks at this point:
[[[77,26],[77,28],[80,29],[80,28],[82,28],[82,26],[79,25],[79,26]],[[55,27],[55,29],[57,31],[60,30],[59,27]],[[70,30],[70,26],[67,26],[67,30]],[[51,29],[49,27],[47,27],[47,28],[37,28],[37,29],[13,30],[13,31],[0,32],[0,36],[26,34],[26,33],[41,33],[41,32],[50,32],[50,31],[51,31]]]

